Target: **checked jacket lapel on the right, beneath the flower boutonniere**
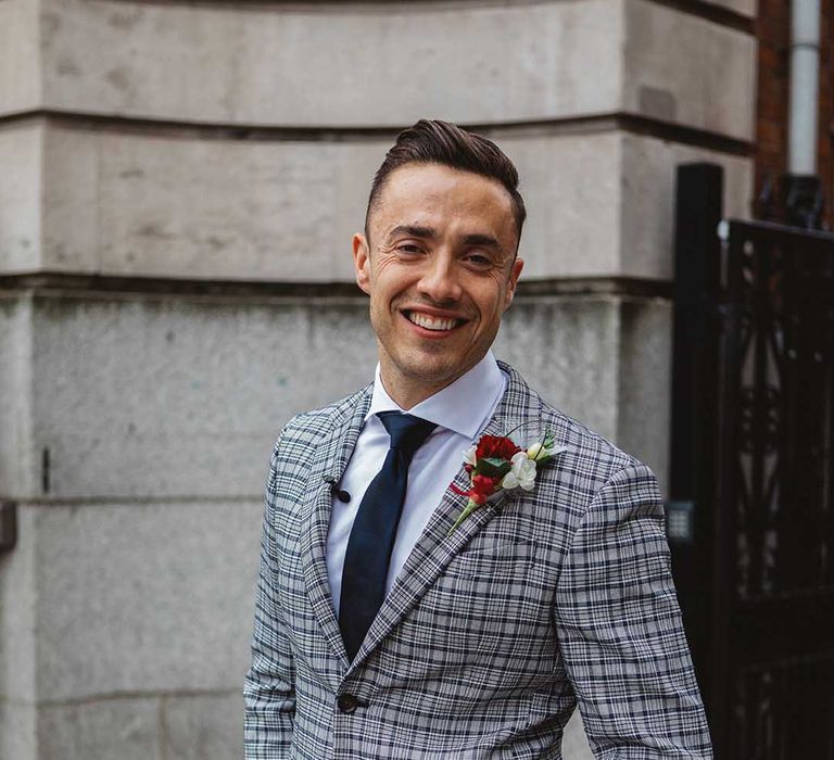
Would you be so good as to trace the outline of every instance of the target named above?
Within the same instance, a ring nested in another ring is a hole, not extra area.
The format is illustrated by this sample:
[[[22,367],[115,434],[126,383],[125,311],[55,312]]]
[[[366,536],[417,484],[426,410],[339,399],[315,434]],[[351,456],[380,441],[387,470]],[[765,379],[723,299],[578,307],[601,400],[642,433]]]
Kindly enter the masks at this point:
[[[509,376],[507,390],[481,434],[505,435],[520,423],[534,422],[540,417],[539,396],[509,365],[502,362],[498,365]],[[463,468],[463,461],[453,482],[458,489],[469,487],[469,478]],[[448,535],[448,529],[466,506],[467,497],[456,494],[451,485],[446,489],[439,507],[432,514],[396,577],[391,592],[382,603],[365,642],[351,663],[351,671],[419,601],[455,555],[463,550],[502,508],[509,507],[515,498],[511,493],[500,493],[494,501],[476,509],[452,535]]]

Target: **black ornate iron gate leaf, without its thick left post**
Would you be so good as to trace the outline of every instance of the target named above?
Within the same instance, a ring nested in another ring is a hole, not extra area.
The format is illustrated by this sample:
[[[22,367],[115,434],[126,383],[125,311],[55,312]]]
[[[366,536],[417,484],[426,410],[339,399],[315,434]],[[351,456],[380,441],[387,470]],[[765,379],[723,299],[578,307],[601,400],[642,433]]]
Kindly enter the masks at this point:
[[[731,221],[723,254],[719,757],[831,760],[834,236]]]

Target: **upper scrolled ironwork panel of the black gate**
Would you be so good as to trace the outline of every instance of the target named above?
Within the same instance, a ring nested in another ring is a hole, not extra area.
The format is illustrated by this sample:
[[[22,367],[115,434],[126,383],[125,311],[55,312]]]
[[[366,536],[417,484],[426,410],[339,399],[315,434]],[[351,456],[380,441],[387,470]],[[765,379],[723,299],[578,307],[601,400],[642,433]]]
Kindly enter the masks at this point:
[[[732,221],[725,266],[730,414],[722,420],[721,465],[731,499],[734,591],[740,603],[830,600],[834,236]]]

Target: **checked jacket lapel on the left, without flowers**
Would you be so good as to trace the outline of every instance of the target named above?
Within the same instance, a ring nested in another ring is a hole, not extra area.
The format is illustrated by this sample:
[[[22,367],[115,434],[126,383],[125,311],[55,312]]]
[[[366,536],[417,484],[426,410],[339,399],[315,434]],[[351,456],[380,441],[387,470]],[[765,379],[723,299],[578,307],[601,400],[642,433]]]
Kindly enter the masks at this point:
[[[348,654],[336,619],[327,575],[327,532],[333,496],[325,478],[339,481],[344,473],[370,406],[371,388],[369,385],[345,400],[329,420],[330,428],[317,444],[311,461],[307,495],[301,512],[301,563],[309,601],[321,633],[345,668]]]

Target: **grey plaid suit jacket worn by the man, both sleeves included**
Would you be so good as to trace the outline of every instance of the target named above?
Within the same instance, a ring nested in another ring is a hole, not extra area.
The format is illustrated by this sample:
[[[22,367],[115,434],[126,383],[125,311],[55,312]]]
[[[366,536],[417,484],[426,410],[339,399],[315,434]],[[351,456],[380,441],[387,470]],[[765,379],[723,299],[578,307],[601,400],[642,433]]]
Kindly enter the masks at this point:
[[[509,383],[485,432],[541,420],[568,451],[532,492],[451,536],[466,498],[447,490],[353,662],[328,586],[324,478],[344,471],[371,387],[282,431],[244,686],[248,760],[558,759],[577,704],[597,758],[712,757],[654,476],[502,368]],[[463,468],[455,482],[468,487]]]

